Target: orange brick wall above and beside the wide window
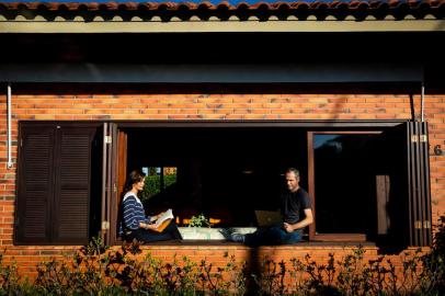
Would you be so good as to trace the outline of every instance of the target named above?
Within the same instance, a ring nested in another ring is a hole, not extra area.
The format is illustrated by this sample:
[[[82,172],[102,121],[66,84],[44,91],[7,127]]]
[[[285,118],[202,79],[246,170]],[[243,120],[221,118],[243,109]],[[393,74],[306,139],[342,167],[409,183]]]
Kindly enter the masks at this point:
[[[7,169],[7,96],[0,93],[0,244],[13,250],[18,122],[94,119],[409,119],[408,94],[14,94],[12,169]],[[23,93],[23,92],[22,92]],[[417,116],[420,96],[413,98]],[[425,95],[433,223],[445,213],[445,94]],[[23,248],[18,248],[23,250]],[[312,249],[312,248],[310,248]],[[59,250],[59,249],[55,249]],[[303,250],[303,251],[309,251]],[[193,249],[197,257],[204,249]],[[203,252],[203,253],[201,253]],[[322,253],[322,252],[321,252]],[[321,254],[320,253],[320,254]],[[41,254],[35,254],[41,257]],[[322,255],[321,255],[322,257]],[[24,260],[27,261],[27,260]]]

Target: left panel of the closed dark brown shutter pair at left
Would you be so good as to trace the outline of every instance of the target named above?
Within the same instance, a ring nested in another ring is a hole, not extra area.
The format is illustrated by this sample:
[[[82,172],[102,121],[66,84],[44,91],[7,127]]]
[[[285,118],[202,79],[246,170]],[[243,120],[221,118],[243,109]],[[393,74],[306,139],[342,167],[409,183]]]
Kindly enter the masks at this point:
[[[20,134],[14,242],[46,243],[50,241],[48,214],[54,181],[54,129],[24,127]]]

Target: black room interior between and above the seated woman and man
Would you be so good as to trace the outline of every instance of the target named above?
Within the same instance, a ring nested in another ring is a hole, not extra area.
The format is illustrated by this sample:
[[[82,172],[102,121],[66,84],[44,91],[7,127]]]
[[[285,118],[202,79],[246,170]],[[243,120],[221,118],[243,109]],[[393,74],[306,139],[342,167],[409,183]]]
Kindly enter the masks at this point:
[[[254,226],[254,209],[277,209],[287,167],[307,171],[306,134],[288,128],[132,128],[128,171],[176,167],[176,184],[147,202]],[[301,179],[307,187],[307,180]],[[185,214],[184,214],[185,215]]]

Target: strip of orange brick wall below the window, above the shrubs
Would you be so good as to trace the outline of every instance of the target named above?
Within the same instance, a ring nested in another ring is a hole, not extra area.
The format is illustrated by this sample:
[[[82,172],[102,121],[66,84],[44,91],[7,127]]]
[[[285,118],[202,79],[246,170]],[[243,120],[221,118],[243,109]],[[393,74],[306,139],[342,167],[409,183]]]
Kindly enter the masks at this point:
[[[79,250],[80,246],[71,247],[15,247],[8,248],[4,251],[3,264],[16,264],[22,276],[27,276],[30,280],[36,277],[36,265],[42,262],[49,262],[53,259],[57,261],[69,260],[72,254]],[[119,247],[114,247],[117,250]],[[346,255],[353,254],[357,250],[355,246],[308,246],[300,243],[296,246],[279,246],[279,247],[261,247],[251,249],[244,246],[151,246],[141,247],[142,252],[138,255],[139,260],[149,253],[152,258],[159,259],[162,262],[171,262],[173,257],[181,262],[183,257],[187,257],[192,262],[197,264],[202,260],[207,263],[212,262],[213,266],[224,267],[229,262],[230,257],[235,255],[236,263],[239,266],[242,262],[247,262],[248,267],[259,266],[265,259],[273,260],[278,263],[282,260],[286,266],[290,269],[290,260],[298,259],[305,261],[305,255],[310,255],[310,261],[316,261],[318,265],[327,264],[330,253],[334,254],[335,262],[342,261]],[[369,260],[375,260],[379,257],[377,247],[363,247],[365,251],[363,255],[363,264],[367,264]],[[421,250],[425,252],[426,249]],[[406,258],[413,255],[415,249],[410,248],[403,254],[386,255],[386,259],[391,260],[396,269],[402,269],[402,262]],[[385,260],[386,262],[386,260]],[[336,263],[335,263],[336,264]]]

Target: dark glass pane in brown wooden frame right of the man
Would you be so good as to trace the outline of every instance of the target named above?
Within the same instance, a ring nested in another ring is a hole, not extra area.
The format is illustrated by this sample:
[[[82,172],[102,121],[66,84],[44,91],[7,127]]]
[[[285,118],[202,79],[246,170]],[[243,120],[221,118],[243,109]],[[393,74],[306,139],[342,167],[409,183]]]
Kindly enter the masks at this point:
[[[315,134],[318,234],[374,231],[377,138],[377,134]]]

